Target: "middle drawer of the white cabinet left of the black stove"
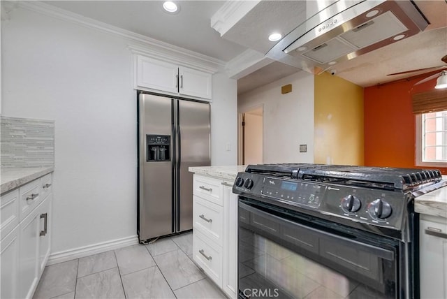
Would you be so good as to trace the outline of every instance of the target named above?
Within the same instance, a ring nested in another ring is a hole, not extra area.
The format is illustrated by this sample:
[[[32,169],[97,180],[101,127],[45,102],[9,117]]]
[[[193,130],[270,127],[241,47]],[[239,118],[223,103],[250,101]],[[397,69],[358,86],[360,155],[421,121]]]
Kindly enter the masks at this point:
[[[223,208],[198,196],[193,198],[193,227],[222,246]]]

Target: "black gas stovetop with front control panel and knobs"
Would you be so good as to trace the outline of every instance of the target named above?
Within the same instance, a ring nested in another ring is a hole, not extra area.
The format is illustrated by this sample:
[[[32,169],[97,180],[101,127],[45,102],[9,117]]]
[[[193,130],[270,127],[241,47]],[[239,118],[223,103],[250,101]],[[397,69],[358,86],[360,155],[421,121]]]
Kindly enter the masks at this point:
[[[402,232],[415,191],[443,187],[439,170],[309,163],[249,165],[233,192],[367,231]]]

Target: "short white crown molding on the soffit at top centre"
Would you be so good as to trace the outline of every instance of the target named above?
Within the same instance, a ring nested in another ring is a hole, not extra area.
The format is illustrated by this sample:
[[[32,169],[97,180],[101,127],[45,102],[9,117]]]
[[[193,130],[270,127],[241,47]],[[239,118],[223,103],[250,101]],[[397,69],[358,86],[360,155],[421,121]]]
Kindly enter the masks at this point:
[[[259,0],[253,1],[226,1],[225,4],[211,17],[211,27],[223,36],[244,15],[247,15],[258,3]]]

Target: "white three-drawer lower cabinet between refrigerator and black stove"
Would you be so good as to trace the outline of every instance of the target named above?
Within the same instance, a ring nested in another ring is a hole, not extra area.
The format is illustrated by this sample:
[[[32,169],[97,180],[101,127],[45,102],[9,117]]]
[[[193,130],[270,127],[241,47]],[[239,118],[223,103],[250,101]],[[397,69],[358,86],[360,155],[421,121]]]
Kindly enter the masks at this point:
[[[194,175],[193,260],[237,298],[237,196],[233,182]]]

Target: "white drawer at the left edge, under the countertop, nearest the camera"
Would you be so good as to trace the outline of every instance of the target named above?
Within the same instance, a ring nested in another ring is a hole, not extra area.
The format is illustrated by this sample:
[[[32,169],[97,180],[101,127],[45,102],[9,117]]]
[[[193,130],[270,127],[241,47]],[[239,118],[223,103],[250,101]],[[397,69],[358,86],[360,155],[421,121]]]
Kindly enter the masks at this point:
[[[0,198],[0,240],[19,224],[19,189]]]

